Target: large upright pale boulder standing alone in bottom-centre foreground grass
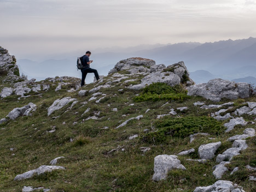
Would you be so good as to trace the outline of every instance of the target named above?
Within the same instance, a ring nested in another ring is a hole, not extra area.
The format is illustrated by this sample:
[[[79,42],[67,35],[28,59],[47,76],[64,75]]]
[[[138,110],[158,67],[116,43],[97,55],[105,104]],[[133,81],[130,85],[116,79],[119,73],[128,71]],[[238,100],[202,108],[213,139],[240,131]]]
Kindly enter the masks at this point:
[[[173,168],[181,168],[186,170],[186,168],[181,164],[176,155],[158,155],[154,159],[154,181],[160,181],[166,179],[167,174]]]

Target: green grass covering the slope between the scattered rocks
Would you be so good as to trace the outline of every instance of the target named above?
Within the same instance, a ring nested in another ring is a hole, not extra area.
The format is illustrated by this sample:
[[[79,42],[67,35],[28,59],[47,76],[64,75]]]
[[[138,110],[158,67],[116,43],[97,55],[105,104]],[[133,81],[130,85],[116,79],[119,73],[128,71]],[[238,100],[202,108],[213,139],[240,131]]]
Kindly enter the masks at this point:
[[[22,107],[29,102],[37,104],[38,109],[32,117],[20,117],[9,120],[0,125],[0,191],[21,191],[24,186],[50,188],[52,191],[193,191],[199,186],[208,186],[216,182],[212,175],[212,167],[216,165],[216,159],[207,164],[187,161],[188,158],[198,159],[197,149],[201,144],[210,142],[222,142],[217,153],[223,153],[232,146],[226,139],[230,136],[241,134],[246,127],[255,127],[253,124],[236,126],[229,133],[223,132],[223,123],[229,120],[218,121],[210,118],[210,114],[219,109],[200,109],[194,106],[196,101],[204,101],[201,97],[190,97],[185,100],[146,100],[135,102],[133,97],[140,91],[132,91],[125,88],[123,82],[113,88],[102,89],[107,96],[100,103],[89,101],[92,94],[79,97],[77,92],[67,92],[72,86],[63,86],[62,90],[55,92],[57,83],[50,83],[48,92],[41,91],[31,97],[21,98],[11,95],[0,100],[0,118],[4,118],[15,107]],[[135,82],[136,83],[136,82]],[[7,86],[7,84],[3,84]],[[90,90],[96,84],[88,84],[83,89]],[[3,86],[3,87],[4,87]],[[8,85],[9,86],[9,85]],[[118,91],[123,89],[123,91]],[[174,89],[174,90],[173,90]],[[162,94],[162,91],[182,92],[181,88],[169,89],[163,85],[163,89],[153,86],[147,90],[153,94]],[[185,92],[183,92],[185,94]],[[78,103],[68,110],[71,103],[54,112],[49,117],[47,108],[57,100],[71,96],[77,98]],[[98,98],[101,98],[99,96]],[[243,102],[256,101],[255,97],[246,100],[236,100],[235,108],[241,107]],[[82,102],[88,102],[82,107]],[[134,104],[129,106],[129,104]],[[220,102],[224,103],[224,102]],[[162,107],[163,106],[163,107]],[[170,108],[187,106],[185,112],[178,112],[177,117],[156,119],[159,114],[167,114]],[[85,110],[90,111],[82,116]],[[118,112],[112,109],[117,108]],[[147,113],[146,110],[150,109]],[[101,112],[97,120],[85,120]],[[124,114],[126,116],[124,116]],[[59,116],[59,118],[52,119]],[[126,126],[115,129],[118,125],[130,119],[143,115],[140,120],[132,120]],[[249,115],[243,115],[247,121],[254,120]],[[65,124],[63,124],[65,122]],[[74,124],[77,122],[77,124]],[[55,126],[55,132],[48,131]],[[103,127],[109,127],[104,130]],[[3,129],[4,128],[4,129]],[[149,129],[149,133],[144,133]],[[158,131],[157,131],[158,130]],[[168,133],[172,131],[172,133]],[[213,140],[206,136],[199,136],[196,142],[189,143],[188,135],[197,131],[208,132]],[[142,138],[153,133],[161,132],[162,141],[143,142]],[[139,138],[129,141],[129,137],[138,134]],[[148,135],[147,135],[148,134]],[[70,142],[70,139],[73,142]],[[254,172],[246,170],[246,165],[256,167],[255,137],[247,140],[249,148],[240,156],[234,158],[230,165],[232,168],[241,167],[240,172],[234,176],[229,173],[223,179],[241,185],[246,191],[253,191],[255,184],[248,181],[249,176],[255,176]],[[123,147],[124,146],[124,147]],[[119,147],[123,147],[118,149]],[[147,153],[141,152],[140,147],[150,147]],[[13,151],[10,148],[14,148]],[[166,181],[154,182],[154,158],[160,154],[173,155],[188,150],[196,149],[196,153],[179,157],[187,171],[172,170],[168,173]],[[108,153],[112,149],[118,149]],[[123,150],[122,150],[123,149]],[[15,154],[15,155],[13,155]],[[49,165],[49,162],[59,156],[65,156],[57,163],[66,167],[66,170],[54,171],[41,176],[36,176],[24,181],[13,181],[17,174]],[[206,176],[204,176],[206,174]]]

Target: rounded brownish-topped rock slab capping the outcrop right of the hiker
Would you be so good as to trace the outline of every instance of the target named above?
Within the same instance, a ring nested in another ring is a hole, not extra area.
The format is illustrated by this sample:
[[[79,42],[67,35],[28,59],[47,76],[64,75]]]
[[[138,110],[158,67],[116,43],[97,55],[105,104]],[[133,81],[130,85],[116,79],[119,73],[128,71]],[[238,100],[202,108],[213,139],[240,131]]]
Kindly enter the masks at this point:
[[[111,69],[108,72],[108,74],[119,72],[119,71],[124,71],[126,69],[131,69],[131,68],[135,68],[135,67],[138,67],[138,66],[150,67],[150,66],[153,66],[153,65],[155,65],[155,61],[153,61],[153,60],[144,59],[144,58],[140,58],[140,57],[132,57],[132,58],[129,58],[129,59],[119,61],[114,66],[114,68]]]

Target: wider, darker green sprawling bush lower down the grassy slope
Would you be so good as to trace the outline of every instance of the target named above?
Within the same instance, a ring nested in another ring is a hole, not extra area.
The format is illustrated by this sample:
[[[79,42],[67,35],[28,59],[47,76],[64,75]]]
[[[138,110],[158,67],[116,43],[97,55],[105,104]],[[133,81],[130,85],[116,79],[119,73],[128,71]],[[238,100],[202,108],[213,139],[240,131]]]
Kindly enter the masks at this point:
[[[220,134],[225,130],[222,123],[207,116],[164,118],[156,121],[155,126],[158,131],[146,133],[142,137],[144,142],[164,142],[168,135],[184,138],[197,132]]]

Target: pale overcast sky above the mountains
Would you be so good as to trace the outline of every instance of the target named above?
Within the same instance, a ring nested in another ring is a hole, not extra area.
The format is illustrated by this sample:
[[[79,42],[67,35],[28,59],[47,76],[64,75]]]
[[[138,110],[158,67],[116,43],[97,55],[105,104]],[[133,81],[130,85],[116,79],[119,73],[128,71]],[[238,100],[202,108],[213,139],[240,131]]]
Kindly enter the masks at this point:
[[[0,0],[0,18],[16,57],[256,37],[254,0]]]

